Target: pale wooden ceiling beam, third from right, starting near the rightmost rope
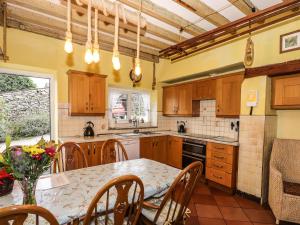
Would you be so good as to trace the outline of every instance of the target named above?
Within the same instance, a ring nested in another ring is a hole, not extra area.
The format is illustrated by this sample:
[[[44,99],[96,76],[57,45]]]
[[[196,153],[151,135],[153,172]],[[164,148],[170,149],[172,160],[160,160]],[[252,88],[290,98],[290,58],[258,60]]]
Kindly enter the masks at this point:
[[[119,0],[121,3],[130,6],[136,10],[139,10],[140,0]],[[171,9],[170,9],[171,10]],[[192,35],[199,35],[200,33],[205,32],[204,29],[191,25],[191,23],[180,16],[152,3],[150,0],[143,0],[143,13],[148,14],[158,20],[161,20],[171,26],[174,26],[178,29],[184,28],[185,26],[189,26],[184,29],[187,33]]]

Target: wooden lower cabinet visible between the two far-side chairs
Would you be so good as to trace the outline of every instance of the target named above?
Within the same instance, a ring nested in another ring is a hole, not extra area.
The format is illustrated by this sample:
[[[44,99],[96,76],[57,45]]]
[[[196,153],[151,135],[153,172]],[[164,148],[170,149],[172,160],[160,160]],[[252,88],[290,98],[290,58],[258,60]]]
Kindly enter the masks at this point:
[[[88,166],[101,164],[101,148],[103,141],[78,143],[88,161]]]

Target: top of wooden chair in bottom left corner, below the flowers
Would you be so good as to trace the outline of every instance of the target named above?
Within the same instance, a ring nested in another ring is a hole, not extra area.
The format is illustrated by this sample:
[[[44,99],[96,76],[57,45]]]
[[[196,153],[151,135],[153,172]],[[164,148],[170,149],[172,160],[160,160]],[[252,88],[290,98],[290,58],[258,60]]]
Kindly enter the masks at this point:
[[[27,221],[31,225],[38,225],[40,220],[47,221],[49,225],[59,225],[53,214],[40,206],[16,205],[0,209],[1,225],[25,225]]]

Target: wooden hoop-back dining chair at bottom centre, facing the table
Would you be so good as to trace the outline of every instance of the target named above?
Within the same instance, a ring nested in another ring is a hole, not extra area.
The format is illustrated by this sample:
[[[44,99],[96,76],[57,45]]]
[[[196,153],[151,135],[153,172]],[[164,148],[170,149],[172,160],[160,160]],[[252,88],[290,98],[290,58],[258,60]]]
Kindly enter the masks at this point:
[[[144,185],[140,178],[125,175],[104,185],[92,200],[83,225],[135,225],[142,210]]]

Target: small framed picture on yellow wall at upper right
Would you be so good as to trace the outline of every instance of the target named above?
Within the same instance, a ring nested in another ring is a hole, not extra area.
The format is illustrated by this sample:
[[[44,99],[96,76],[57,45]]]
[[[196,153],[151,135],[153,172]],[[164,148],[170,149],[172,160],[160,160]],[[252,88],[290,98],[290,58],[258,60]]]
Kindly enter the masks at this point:
[[[300,30],[280,35],[280,53],[300,49]]]

